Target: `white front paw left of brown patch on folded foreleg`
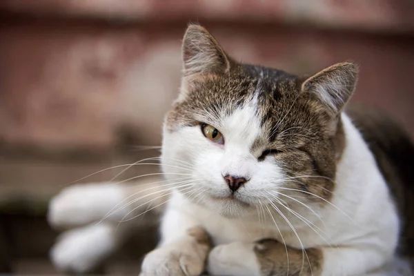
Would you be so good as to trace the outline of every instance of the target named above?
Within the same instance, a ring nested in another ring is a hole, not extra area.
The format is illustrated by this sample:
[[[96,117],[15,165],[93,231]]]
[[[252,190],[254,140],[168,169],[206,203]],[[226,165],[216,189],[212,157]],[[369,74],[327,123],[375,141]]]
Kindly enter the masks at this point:
[[[259,263],[253,247],[253,243],[242,242],[216,246],[208,255],[208,274],[219,276],[260,275]]]

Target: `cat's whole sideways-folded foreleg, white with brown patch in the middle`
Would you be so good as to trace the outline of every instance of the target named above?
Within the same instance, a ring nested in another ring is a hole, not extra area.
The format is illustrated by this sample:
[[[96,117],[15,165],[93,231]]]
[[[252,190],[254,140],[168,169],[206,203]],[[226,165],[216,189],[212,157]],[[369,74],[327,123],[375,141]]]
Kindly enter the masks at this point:
[[[352,246],[304,251],[287,247],[286,255],[283,244],[264,239],[216,246],[208,256],[208,273],[220,276],[368,275],[383,266],[385,259],[378,250]]]

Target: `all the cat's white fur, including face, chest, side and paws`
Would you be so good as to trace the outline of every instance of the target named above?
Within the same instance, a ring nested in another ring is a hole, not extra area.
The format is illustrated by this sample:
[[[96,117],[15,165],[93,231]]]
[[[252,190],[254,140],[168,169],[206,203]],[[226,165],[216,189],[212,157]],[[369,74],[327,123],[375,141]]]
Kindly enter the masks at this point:
[[[182,128],[173,133],[164,131],[161,157],[167,178],[180,181],[191,177],[193,185],[186,186],[187,190],[182,192],[177,187],[168,202],[161,221],[161,242],[155,251],[157,253],[151,253],[144,261],[145,269],[155,273],[150,275],[168,275],[168,269],[162,267],[178,269],[194,263],[190,259],[174,257],[177,254],[181,256],[179,253],[186,248],[181,241],[188,239],[186,230],[194,226],[205,228],[213,244],[218,246],[208,257],[208,269],[212,275],[259,275],[252,243],[262,238],[275,238],[282,242],[282,236],[284,242],[293,248],[322,248],[323,275],[395,275],[395,270],[391,269],[393,266],[388,263],[393,262],[399,221],[373,155],[351,120],[346,115],[342,116],[346,148],[337,166],[331,204],[321,206],[306,202],[313,213],[305,206],[289,201],[289,206],[308,219],[318,233],[288,210],[279,208],[292,222],[301,239],[299,242],[282,216],[273,212],[273,218],[263,217],[262,213],[260,217],[257,213],[255,206],[265,203],[265,191],[277,190],[282,185],[282,182],[270,181],[282,179],[284,174],[273,157],[257,162],[250,152],[251,144],[260,135],[255,111],[255,103],[252,102],[216,123],[208,121],[223,133],[226,146],[206,139],[198,127]],[[238,201],[226,198],[230,192],[222,175],[227,173],[249,179],[235,194]],[[74,187],[62,193],[52,201],[50,221],[59,225],[68,222],[77,225],[97,217],[100,219],[124,196],[119,186],[114,190],[101,190],[100,187],[91,186],[85,190]],[[88,195],[88,189],[91,194],[94,190],[95,195]],[[77,200],[79,202],[74,203]],[[80,207],[75,206],[77,204]],[[91,213],[86,212],[88,210]],[[82,272],[114,250],[115,238],[108,229],[75,230],[55,246],[52,259],[59,268]],[[172,252],[174,254],[170,257],[165,257]],[[198,266],[194,269],[197,270]]]

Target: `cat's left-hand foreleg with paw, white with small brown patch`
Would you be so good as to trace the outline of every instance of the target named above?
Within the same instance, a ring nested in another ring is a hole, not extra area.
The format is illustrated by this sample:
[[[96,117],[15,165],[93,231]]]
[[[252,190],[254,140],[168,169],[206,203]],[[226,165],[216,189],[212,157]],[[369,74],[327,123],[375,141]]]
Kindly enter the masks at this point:
[[[141,276],[197,276],[204,271],[210,239],[197,221],[167,210],[161,224],[161,243],[144,258]]]

